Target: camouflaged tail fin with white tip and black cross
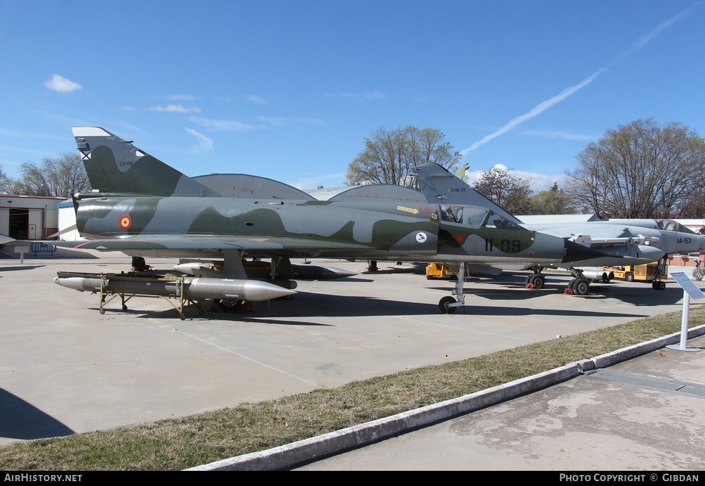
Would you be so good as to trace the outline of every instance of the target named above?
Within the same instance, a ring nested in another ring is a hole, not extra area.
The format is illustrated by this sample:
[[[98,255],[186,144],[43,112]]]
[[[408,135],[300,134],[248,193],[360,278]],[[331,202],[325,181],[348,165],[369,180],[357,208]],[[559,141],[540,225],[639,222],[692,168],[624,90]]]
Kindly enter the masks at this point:
[[[150,196],[219,196],[99,126],[72,126],[94,190]]]

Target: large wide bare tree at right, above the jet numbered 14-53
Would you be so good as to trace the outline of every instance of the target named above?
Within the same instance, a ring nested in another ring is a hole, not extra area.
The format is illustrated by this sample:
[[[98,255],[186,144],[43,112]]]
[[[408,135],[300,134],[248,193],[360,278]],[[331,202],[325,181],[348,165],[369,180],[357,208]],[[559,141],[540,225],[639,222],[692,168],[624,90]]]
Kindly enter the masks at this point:
[[[600,218],[669,218],[705,175],[705,141],[677,123],[654,119],[608,130],[566,171],[566,194]]]

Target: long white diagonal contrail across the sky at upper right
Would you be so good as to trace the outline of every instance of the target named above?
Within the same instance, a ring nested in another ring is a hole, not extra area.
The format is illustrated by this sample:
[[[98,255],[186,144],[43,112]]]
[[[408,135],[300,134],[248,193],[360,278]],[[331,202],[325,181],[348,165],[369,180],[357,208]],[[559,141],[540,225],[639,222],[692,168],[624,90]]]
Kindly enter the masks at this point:
[[[465,150],[460,150],[460,155],[465,157],[465,155],[467,155],[467,153],[472,152],[472,150],[475,150],[479,146],[482,146],[485,143],[491,141],[492,138],[496,138],[500,135],[506,134],[508,131],[513,129],[515,126],[524,123],[528,119],[538,117],[539,114],[545,112],[546,109],[565,100],[567,97],[569,97],[573,93],[576,93],[578,90],[580,90],[580,89],[584,88],[585,86],[589,85],[590,83],[592,83],[592,81],[594,81],[595,78],[597,78],[597,76],[600,76],[603,72],[607,71],[608,68],[617,64],[622,59],[625,59],[625,57],[629,56],[630,54],[633,54],[638,49],[641,49],[642,47],[644,47],[649,41],[651,41],[651,39],[656,37],[656,35],[658,35],[659,32],[661,32],[662,30],[666,30],[671,25],[678,22],[678,20],[680,20],[681,18],[687,16],[690,13],[690,11],[692,11],[694,8],[697,8],[701,4],[704,4],[704,3],[705,3],[705,1],[703,1],[703,0],[697,1],[696,3],[692,4],[692,6],[689,6],[684,11],[679,13],[677,16],[670,18],[669,20],[666,20],[666,22],[664,22],[664,23],[661,23],[661,25],[658,25],[658,27],[656,27],[654,30],[651,30],[651,32],[649,32],[648,34],[643,35],[642,37],[639,37],[639,39],[637,39],[637,41],[632,45],[632,47],[630,47],[630,49],[627,49],[625,52],[623,52],[620,55],[620,57],[618,57],[617,59],[612,61],[607,66],[604,66],[604,67],[598,69],[597,71],[592,73],[590,76],[588,76],[584,80],[580,81],[580,83],[577,83],[577,85],[571,86],[570,88],[567,88],[567,89],[561,91],[560,93],[558,93],[558,95],[556,95],[552,98],[549,98],[546,101],[540,102],[538,105],[536,105],[534,108],[532,108],[531,111],[529,111],[525,114],[522,114],[522,115],[516,117],[515,119],[510,120],[509,123],[505,124],[505,126],[503,126],[501,129],[495,131],[492,134],[485,136],[484,138],[482,138],[482,140],[479,140],[479,141],[473,143],[470,147],[466,148]]]

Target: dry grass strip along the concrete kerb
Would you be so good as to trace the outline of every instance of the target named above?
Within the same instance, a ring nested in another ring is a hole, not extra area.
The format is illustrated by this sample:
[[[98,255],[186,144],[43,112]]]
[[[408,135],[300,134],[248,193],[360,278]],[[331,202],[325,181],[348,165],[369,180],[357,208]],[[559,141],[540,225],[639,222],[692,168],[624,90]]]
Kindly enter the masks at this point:
[[[705,307],[689,326],[705,324]],[[680,331],[681,312],[334,389],[0,447],[0,470],[181,470],[359,425]]]

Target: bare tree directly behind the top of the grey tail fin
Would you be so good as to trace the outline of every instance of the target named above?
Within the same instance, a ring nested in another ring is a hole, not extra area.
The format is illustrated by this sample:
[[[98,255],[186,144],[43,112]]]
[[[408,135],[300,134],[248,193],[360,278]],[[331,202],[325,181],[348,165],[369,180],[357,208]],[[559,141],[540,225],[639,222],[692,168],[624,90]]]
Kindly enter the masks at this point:
[[[413,186],[413,167],[436,162],[450,170],[461,155],[444,141],[443,132],[436,129],[377,129],[364,141],[364,150],[348,166],[345,184],[397,184]]]

